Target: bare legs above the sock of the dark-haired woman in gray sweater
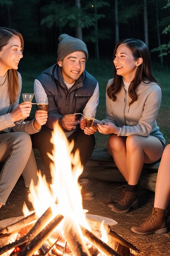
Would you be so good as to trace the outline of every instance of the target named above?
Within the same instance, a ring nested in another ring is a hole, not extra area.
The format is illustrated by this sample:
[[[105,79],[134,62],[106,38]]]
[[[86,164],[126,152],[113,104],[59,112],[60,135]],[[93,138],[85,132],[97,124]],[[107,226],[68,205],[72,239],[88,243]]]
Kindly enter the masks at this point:
[[[163,153],[163,146],[154,136],[111,135],[108,139],[108,152],[128,184],[136,185],[144,163],[158,161]]]

